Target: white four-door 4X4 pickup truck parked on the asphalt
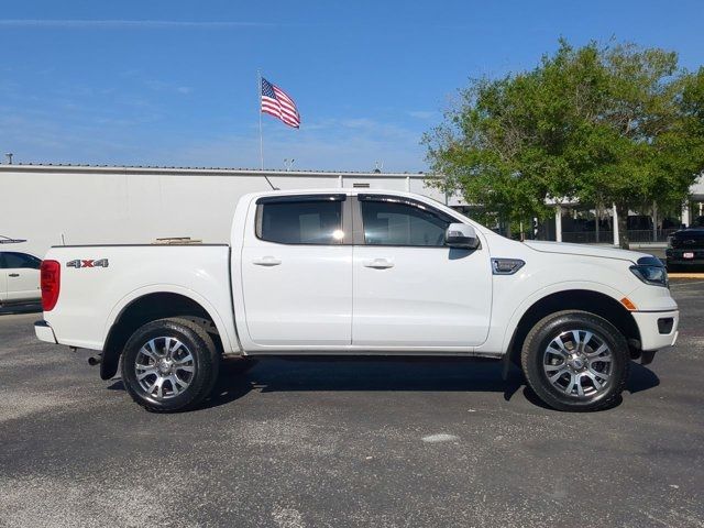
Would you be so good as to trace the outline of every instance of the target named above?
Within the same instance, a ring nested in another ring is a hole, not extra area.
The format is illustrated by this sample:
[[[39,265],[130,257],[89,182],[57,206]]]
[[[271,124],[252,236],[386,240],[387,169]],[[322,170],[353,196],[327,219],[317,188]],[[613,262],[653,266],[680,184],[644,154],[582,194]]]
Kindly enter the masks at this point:
[[[152,411],[197,406],[230,356],[454,355],[520,365],[561,410],[612,405],[631,359],[673,345],[679,311],[650,255],[516,242],[397,191],[268,191],[231,242],[52,248],[38,339],[121,361]]]

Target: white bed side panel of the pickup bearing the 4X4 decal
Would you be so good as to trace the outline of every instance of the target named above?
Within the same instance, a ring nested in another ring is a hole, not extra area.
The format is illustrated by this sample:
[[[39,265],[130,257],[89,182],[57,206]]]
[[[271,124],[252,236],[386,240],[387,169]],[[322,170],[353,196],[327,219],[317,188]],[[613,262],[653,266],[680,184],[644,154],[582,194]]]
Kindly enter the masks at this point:
[[[59,343],[102,350],[122,310],[152,293],[191,298],[212,317],[226,352],[238,350],[230,296],[227,245],[131,245],[53,248],[61,263],[56,307],[44,312]],[[108,260],[108,266],[69,267],[74,260]]]

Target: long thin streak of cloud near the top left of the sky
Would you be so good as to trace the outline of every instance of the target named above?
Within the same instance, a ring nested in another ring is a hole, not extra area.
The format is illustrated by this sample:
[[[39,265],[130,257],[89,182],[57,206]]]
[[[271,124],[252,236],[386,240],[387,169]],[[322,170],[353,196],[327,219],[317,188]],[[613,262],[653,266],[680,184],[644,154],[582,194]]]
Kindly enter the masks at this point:
[[[0,28],[57,30],[229,30],[233,28],[278,28],[268,22],[189,22],[179,20],[80,20],[80,19],[0,19]]]

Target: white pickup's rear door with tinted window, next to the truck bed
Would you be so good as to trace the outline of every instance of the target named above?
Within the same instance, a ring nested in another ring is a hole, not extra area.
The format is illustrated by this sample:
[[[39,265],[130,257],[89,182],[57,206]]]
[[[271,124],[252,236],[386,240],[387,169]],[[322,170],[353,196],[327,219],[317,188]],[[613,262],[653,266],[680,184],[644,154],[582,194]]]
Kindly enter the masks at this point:
[[[352,245],[342,194],[260,198],[248,216],[242,287],[251,343],[350,345]]]

